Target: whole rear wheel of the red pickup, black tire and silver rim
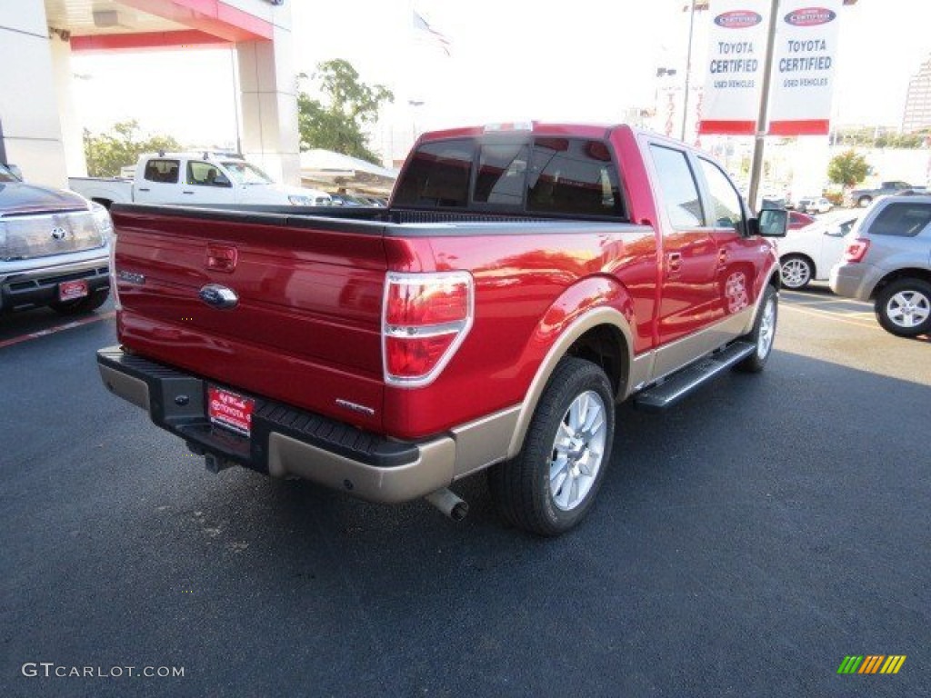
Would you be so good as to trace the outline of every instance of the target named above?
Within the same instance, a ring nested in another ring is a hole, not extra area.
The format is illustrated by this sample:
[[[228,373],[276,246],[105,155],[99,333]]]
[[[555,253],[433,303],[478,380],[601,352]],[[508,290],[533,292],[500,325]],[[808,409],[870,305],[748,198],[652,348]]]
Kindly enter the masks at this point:
[[[563,358],[546,383],[520,453],[489,471],[501,516],[543,536],[572,529],[595,501],[613,439],[608,377],[590,361]]]

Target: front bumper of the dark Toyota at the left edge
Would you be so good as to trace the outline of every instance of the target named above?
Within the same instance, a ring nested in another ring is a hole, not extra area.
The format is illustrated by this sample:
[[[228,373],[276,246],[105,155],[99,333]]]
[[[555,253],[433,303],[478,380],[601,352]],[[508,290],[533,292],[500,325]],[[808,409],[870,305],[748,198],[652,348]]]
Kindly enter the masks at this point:
[[[59,264],[21,273],[0,273],[0,310],[25,310],[59,300],[59,284],[84,279],[88,295],[110,289],[109,259]]]

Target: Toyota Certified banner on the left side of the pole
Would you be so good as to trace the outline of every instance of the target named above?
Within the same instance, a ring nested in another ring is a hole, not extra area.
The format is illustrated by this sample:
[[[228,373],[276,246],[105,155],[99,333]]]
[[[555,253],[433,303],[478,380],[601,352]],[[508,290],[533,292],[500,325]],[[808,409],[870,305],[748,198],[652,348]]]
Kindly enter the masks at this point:
[[[712,0],[699,133],[751,136],[760,111],[768,0]]]

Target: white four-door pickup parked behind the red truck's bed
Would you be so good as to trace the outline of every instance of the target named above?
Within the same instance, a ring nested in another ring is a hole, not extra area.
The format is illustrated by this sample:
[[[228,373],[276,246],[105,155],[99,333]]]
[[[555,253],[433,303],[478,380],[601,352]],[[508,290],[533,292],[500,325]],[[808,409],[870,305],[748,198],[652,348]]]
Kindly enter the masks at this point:
[[[72,177],[68,185],[106,208],[111,204],[330,206],[316,189],[277,184],[237,154],[143,154],[133,179]]]

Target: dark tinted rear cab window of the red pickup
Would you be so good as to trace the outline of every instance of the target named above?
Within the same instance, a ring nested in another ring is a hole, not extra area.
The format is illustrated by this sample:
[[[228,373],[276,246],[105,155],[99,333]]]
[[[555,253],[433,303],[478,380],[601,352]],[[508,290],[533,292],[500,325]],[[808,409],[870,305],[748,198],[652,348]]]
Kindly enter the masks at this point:
[[[413,155],[398,208],[624,218],[607,142],[544,136],[431,141]]]

